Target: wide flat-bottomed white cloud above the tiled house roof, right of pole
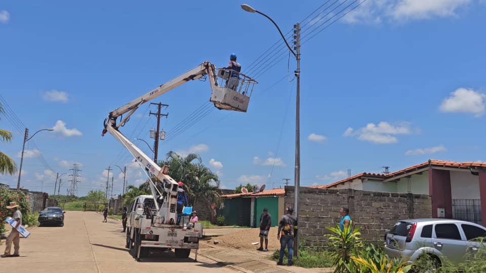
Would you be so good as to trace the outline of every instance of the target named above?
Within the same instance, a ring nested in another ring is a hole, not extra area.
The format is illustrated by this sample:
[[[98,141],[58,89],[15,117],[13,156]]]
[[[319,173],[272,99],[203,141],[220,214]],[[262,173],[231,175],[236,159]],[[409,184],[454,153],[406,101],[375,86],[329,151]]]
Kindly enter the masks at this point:
[[[411,133],[412,130],[409,122],[392,125],[388,122],[381,121],[378,125],[368,123],[365,127],[357,130],[349,127],[343,133],[343,136],[357,136],[358,140],[375,144],[392,144],[398,142],[394,135]]]

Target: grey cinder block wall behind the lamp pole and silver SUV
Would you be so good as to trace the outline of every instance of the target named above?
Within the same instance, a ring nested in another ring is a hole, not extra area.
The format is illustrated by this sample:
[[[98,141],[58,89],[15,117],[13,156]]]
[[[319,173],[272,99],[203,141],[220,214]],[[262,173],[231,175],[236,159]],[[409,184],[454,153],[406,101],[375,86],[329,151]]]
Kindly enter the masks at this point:
[[[294,207],[294,187],[285,187],[285,191],[285,206]],[[362,238],[378,245],[397,220],[432,217],[428,195],[301,187],[299,203],[299,238],[312,247],[326,246],[324,235],[329,232],[325,228],[339,224],[341,207],[349,208]]]

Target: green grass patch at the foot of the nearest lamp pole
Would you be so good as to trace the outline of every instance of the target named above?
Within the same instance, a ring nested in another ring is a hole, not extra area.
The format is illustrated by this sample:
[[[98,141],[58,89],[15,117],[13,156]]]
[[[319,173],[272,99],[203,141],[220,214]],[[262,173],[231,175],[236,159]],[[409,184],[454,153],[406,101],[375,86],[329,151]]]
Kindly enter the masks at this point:
[[[289,252],[287,248],[284,254],[284,264],[287,263],[287,257]],[[275,250],[270,256],[271,260],[278,261],[280,257],[280,250]],[[333,260],[329,251],[326,250],[313,250],[308,247],[301,246],[299,248],[299,256],[292,259],[296,266],[305,268],[315,268],[315,267],[332,267]]]

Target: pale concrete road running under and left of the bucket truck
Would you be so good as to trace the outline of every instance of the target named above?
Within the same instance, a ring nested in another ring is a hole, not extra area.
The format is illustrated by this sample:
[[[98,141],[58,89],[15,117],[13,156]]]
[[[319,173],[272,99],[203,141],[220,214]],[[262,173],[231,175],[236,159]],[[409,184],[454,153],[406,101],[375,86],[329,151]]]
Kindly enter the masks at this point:
[[[234,272],[194,253],[177,259],[173,252],[156,261],[137,262],[125,248],[121,222],[102,223],[96,212],[67,211],[64,227],[30,228],[28,239],[20,240],[20,257],[0,258],[0,272]],[[0,244],[3,253],[5,240]]]

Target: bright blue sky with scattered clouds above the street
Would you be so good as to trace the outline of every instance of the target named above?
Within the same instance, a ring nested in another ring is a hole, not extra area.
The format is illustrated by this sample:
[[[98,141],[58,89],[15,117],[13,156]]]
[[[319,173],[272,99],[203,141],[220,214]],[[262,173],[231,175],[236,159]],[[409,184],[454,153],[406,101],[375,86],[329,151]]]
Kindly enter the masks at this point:
[[[113,193],[120,193],[123,176],[115,164],[128,166],[129,184],[140,184],[142,170],[128,152],[111,135],[101,137],[108,112],[201,62],[225,66],[231,53],[242,72],[260,82],[248,112],[197,112],[204,117],[169,141],[184,118],[206,107],[211,91],[208,82],[194,81],[160,96],[153,102],[170,106],[159,158],[170,150],[197,152],[224,188],[278,187],[282,178],[293,184],[295,60],[250,66],[279,34],[263,16],[241,10],[244,3],[272,17],[284,33],[303,20],[301,185],[332,183],[347,169],[394,171],[429,158],[486,160],[486,3],[368,0],[310,38],[351,3],[328,14],[342,2],[320,13],[329,2],[305,20],[326,2],[2,2],[0,94],[10,119],[15,114],[30,132],[56,129],[28,142],[21,185],[51,194],[56,172],[69,174],[73,163],[82,170],[79,195],[104,188],[108,166]],[[141,106],[122,132],[150,141],[156,120],[149,111],[155,107]],[[2,116],[0,126],[14,140],[1,150],[20,163],[22,126],[10,119]],[[16,182],[15,175],[0,176],[0,183]]]

